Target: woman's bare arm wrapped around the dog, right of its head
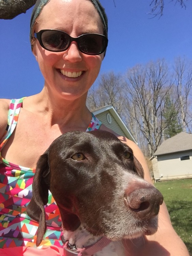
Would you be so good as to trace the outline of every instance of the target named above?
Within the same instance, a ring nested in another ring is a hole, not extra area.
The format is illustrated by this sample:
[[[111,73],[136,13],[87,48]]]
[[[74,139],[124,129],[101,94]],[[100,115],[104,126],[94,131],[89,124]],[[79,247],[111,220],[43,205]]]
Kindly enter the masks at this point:
[[[146,160],[139,147],[134,142],[127,140],[124,137],[119,137],[119,139],[132,148],[134,156],[144,169],[145,180],[152,183]],[[128,255],[189,256],[187,247],[172,227],[165,203],[160,205],[158,224],[158,230],[152,236],[144,236],[144,238],[136,239],[135,241],[133,240],[131,243],[130,241],[125,241],[127,244],[127,251],[130,253]]]

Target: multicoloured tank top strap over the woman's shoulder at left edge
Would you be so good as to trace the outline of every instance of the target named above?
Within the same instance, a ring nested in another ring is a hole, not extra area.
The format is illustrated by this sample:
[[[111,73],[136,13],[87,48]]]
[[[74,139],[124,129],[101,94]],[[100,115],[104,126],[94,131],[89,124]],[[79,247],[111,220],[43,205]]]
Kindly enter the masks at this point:
[[[5,134],[3,138],[0,140],[0,151],[2,150],[3,146],[8,141],[9,137],[15,130],[15,127],[17,125],[19,112],[23,103],[23,100],[25,97],[21,99],[12,99],[10,102],[9,112],[8,112],[8,125],[6,127]]]

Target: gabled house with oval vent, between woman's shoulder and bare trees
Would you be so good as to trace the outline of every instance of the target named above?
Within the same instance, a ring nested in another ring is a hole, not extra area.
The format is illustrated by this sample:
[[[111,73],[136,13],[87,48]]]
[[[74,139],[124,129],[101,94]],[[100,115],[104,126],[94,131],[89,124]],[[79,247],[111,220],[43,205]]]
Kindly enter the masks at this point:
[[[137,143],[113,105],[107,105],[92,112],[106,127]]]

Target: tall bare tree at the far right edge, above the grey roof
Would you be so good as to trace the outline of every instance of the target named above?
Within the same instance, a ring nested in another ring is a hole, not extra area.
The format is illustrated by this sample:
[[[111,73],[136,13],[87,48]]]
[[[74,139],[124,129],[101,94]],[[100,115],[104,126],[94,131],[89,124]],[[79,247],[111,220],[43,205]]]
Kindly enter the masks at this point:
[[[175,85],[183,131],[192,132],[191,87],[192,62],[180,57],[175,60]]]

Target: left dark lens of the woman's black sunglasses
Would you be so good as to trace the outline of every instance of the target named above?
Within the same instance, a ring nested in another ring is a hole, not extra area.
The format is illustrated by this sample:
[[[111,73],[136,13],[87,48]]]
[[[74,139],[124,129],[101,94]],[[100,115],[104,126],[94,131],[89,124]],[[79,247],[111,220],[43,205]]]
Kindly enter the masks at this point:
[[[64,51],[69,45],[69,35],[62,31],[44,31],[41,40],[43,46],[50,51]]]

